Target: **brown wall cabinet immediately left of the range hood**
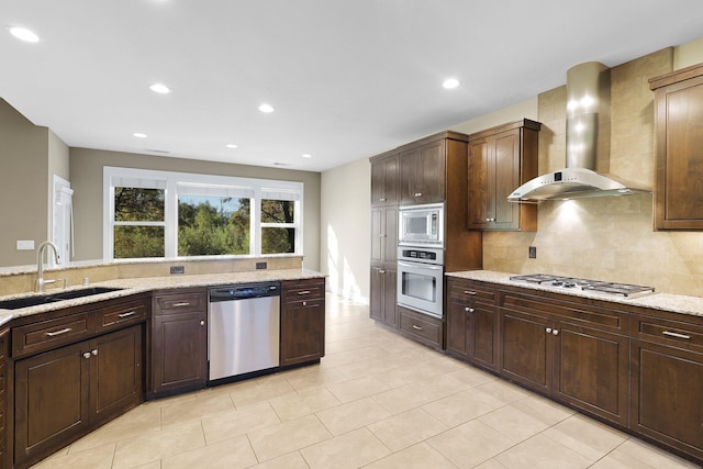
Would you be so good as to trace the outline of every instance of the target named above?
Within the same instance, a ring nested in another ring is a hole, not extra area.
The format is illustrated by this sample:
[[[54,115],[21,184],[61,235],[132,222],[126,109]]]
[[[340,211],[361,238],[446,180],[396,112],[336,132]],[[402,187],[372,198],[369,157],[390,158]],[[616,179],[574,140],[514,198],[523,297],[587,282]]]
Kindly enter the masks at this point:
[[[469,135],[469,228],[537,231],[537,205],[507,196],[537,177],[540,127],[524,119]]]

